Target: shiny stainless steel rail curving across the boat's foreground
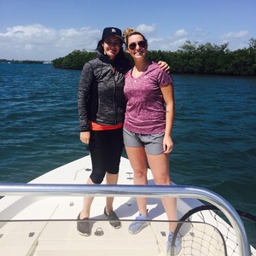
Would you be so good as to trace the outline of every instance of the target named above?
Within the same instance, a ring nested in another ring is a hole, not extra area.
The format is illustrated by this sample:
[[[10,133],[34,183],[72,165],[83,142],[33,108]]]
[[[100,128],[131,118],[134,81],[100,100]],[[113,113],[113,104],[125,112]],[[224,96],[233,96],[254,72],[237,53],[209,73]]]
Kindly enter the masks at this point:
[[[236,232],[239,255],[250,256],[247,234],[238,213],[223,197],[208,190],[193,186],[138,186],[138,185],[81,185],[81,184],[39,184],[0,183],[0,195],[74,195],[74,196],[133,196],[133,197],[176,197],[197,198],[218,207]]]

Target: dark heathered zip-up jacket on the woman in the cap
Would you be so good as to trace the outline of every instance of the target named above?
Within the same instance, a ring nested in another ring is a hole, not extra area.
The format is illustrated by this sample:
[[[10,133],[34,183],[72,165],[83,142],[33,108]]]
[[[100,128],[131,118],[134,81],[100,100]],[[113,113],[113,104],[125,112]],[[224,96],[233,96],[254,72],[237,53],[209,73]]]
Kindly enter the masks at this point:
[[[102,54],[84,64],[78,96],[80,131],[90,131],[89,120],[100,125],[124,121],[124,74],[129,68],[127,61],[110,63]]]

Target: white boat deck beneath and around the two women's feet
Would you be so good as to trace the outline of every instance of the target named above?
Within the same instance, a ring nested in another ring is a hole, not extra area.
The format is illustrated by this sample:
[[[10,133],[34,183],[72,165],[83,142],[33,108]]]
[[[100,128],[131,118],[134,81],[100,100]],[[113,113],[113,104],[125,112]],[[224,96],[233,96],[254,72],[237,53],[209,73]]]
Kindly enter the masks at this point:
[[[84,184],[90,175],[85,169],[90,170],[90,157],[61,166],[31,183]],[[148,179],[153,183],[151,172],[148,172]],[[119,184],[133,184],[131,167],[126,159],[121,161]],[[83,197],[73,195],[4,197],[0,201],[0,255],[166,255],[168,224],[158,221],[166,220],[159,198],[148,199],[148,215],[154,221],[137,235],[128,232],[131,220],[138,214],[135,198],[115,197],[114,211],[123,221],[122,227],[114,230],[103,214],[105,197],[96,196],[90,212],[91,236],[80,236],[76,229],[76,218],[82,205]],[[178,218],[199,205],[201,202],[197,200],[177,199]],[[12,222],[4,222],[10,219]],[[193,221],[198,221],[196,216]],[[103,235],[98,236],[101,231]],[[186,246],[178,255],[224,255],[223,241],[212,225],[194,223],[191,231],[190,224],[184,224],[181,233]],[[191,252],[190,238],[193,238],[195,252]],[[238,252],[237,245],[235,251]],[[256,255],[254,249],[252,253]],[[230,252],[228,255],[238,254]]]

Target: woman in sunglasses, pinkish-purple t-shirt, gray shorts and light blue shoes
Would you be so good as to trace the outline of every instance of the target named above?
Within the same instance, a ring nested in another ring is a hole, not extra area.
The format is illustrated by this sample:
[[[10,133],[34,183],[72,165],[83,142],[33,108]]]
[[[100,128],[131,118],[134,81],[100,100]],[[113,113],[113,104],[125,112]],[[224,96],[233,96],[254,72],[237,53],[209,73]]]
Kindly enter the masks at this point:
[[[126,29],[123,33],[126,50],[135,66],[125,74],[126,112],[124,143],[134,171],[134,183],[146,185],[147,161],[157,185],[170,185],[169,154],[173,148],[172,124],[174,120],[174,92],[172,77],[154,62],[146,59],[148,43],[142,33]],[[177,220],[177,200],[162,198],[168,220]],[[139,215],[129,226],[137,234],[149,222],[147,199],[137,198]],[[167,253],[171,253],[176,223],[169,222]],[[176,239],[175,253],[181,249]]]

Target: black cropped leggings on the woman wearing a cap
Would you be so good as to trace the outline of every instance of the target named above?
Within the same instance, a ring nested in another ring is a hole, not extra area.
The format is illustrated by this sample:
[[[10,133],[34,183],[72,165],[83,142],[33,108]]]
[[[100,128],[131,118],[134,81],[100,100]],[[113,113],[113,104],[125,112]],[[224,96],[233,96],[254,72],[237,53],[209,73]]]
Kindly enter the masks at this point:
[[[123,128],[106,131],[90,131],[90,158],[93,183],[102,183],[106,172],[119,172],[120,157],[124,148]]]

